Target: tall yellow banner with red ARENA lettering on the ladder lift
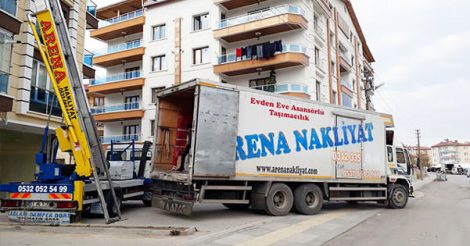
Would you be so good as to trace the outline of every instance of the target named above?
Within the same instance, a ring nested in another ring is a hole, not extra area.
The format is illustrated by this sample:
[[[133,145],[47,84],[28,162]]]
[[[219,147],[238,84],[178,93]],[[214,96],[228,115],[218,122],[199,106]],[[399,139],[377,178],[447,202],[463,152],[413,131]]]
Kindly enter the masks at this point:
[[[64,114],[65,124],[68,126],[66,133],[67,139],[72,144],[72,152],[77,165],[75,171],[79,176],[91,176],[90,150],[85,134],[80,127],[75,99],[70,88],[71,84],[55,23],[49,10],[37,13],[36,17],[45,46],[44,52],[42,52],[46,56],[43,57],[44,62],[49,64],[50,69],[48,70],[54,92]]]

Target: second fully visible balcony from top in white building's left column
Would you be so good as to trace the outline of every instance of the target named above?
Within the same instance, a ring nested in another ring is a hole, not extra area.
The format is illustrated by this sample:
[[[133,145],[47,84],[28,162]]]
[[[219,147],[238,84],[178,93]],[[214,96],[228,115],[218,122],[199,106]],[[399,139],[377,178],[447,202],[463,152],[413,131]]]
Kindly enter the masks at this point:
[[[94,65],[102,67],[116,66],[127,62],[141,61],[145,48],[140,40],[109,46],[93,52]]]

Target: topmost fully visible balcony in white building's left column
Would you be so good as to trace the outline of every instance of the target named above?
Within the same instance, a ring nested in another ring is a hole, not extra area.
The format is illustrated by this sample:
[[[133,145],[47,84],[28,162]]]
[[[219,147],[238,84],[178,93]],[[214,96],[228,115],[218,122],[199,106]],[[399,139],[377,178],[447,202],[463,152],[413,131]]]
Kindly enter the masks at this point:
[[[99,29],[90,32],[90,37],[108,41],[125,35],[141,33],[145,23],[144,10],[139,9],[100,21]]]

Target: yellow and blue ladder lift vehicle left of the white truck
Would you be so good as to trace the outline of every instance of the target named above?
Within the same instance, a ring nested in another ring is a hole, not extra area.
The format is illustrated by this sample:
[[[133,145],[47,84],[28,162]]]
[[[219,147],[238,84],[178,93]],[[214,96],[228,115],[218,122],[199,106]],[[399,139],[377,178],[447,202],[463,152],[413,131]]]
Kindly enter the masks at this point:
[[[0,184],[0,211],[14,221],[61,224],[79,221],[84,211],[94,210],[111,223],[121,219],[123,200],[142,200],[150,206],[143,170],[137,171],[139,175],[132,171],[128,179],[110,175],[59,0],[37,5],[29,24],[62,109],[63,125],[56,129],[58,143],[52,146],[47,141],[49,126],[45,127],[34,181]],[[74,162],[57,163],[58,148],[70,153]]]

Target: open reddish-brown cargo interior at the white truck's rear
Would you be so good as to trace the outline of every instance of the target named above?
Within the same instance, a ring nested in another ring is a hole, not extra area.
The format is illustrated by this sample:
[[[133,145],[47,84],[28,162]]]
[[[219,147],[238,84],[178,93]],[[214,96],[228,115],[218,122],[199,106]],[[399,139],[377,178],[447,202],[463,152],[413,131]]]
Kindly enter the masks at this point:
[[[185,179],[188,173],[195,87],[158,98],[152,177],[173,171]]]

